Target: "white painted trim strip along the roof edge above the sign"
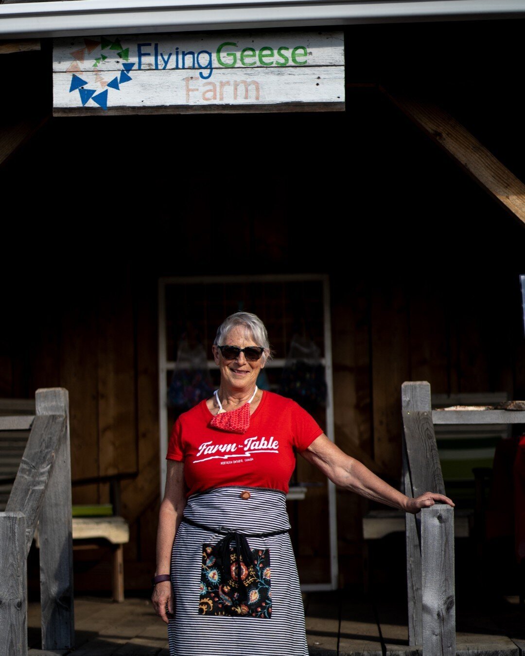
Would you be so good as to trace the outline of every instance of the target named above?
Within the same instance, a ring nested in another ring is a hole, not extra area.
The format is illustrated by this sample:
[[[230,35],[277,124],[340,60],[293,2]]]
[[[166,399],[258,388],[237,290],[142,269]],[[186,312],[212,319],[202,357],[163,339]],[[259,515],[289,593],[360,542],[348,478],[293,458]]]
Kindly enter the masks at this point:
[[[523,0],[64,0],[0,5],[0,35],[60,37],[518,18]]]

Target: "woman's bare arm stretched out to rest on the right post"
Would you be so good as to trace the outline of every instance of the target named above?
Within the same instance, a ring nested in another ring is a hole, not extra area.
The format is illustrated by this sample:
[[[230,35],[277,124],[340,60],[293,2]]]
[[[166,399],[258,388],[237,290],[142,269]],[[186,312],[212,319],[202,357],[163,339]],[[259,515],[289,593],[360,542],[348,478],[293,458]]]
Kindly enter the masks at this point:
[[[405,512],[415,514],[434,503],[454,505],[452,499],[434,492],[425,492],[415,499],[407,497],[373,474],[362,462],[341,451],[325,434],[314,440],[306,451],[301,451],[301,455],[315,464],[335,485]]]

